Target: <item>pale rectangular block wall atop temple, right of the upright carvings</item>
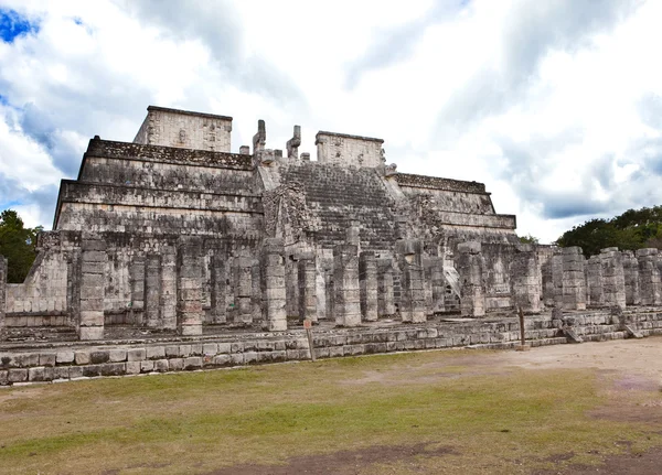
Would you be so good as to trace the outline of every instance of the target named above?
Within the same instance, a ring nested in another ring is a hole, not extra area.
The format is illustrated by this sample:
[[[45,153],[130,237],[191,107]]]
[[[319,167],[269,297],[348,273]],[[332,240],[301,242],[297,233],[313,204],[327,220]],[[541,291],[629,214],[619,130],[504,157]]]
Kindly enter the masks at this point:
[[[367,168],[376,168],[383,163],[382,139],[320,131],[314,144],[319,163]]]

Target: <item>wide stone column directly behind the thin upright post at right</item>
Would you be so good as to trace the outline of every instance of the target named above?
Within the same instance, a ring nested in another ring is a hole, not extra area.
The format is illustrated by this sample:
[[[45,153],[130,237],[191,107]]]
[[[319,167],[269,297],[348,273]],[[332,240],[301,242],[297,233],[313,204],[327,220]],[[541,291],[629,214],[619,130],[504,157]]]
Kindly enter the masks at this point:
[[[537,252],[532,245],[515,247],[510,265],[511,292],[515,309],[525,313],[541,312],[541,283],[537,274]]]

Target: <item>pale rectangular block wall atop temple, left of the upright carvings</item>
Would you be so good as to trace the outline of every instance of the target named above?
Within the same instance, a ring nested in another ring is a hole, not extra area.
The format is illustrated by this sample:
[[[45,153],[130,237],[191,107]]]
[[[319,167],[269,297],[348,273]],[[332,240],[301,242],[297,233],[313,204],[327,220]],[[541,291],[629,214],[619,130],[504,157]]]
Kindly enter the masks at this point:
[[[229,152],[232,117],[154,106],[147,111],[135,143]]]

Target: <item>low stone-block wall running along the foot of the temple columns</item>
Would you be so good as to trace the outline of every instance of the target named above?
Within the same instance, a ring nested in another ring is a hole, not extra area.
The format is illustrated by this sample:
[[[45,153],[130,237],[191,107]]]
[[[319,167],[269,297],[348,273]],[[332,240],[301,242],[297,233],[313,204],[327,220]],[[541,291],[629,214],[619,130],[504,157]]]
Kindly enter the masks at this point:
[[[562,324],[573,323],[584,341],[628,336],[619,317],[607,312],[527,317],[525,337],[532,346],[568,343]],[[630,328],[643,336],[662,335],[662,312],[640,309],[626,312]],[[337,330],[316,328],[318,358],[451,347],[512,348],[520,342],[516,319],[392,324]],[[227,336],[153,338],[95,344],[32,344],[30,348],[0,346],[0,385],[77,380],[103,376],[212,369],[232,366],[296,361],[310,358],[302,330],[282,333],[244,333]]]

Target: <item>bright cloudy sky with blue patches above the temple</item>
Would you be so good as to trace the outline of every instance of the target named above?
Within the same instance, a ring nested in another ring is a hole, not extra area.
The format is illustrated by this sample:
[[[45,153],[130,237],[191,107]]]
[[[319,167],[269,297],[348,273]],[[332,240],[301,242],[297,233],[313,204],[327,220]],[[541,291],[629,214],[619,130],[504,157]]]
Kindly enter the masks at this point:
[[[0,209],[51,227],[95,134],[148,105],[378,137],[398,171],[484,182],[548,242],[662,204],[662,1],[0,0]]]

